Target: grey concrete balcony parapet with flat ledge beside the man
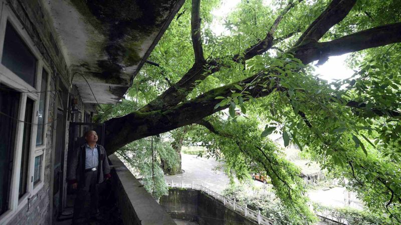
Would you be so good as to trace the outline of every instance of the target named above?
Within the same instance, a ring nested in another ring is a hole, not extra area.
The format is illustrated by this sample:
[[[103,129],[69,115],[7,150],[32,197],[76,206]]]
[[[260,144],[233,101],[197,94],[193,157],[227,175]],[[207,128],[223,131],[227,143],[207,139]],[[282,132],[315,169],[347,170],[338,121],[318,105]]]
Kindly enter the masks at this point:
[[[109,159],[113,189],[124,224],[175,224],[117,156],[109,155]]]

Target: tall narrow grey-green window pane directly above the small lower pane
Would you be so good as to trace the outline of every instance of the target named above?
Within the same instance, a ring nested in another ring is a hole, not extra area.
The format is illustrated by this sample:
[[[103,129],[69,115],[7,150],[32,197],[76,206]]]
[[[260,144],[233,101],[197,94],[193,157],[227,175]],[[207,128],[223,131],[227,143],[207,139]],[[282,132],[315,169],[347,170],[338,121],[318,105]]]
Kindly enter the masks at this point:
[[[46,114],[46,95],[47,95],[47,77],[48,73],[42,69],[41,93],[38,110],[38,132],[36,134],[36,145],[43,144],[43,133],[45,131],[45,114]]]

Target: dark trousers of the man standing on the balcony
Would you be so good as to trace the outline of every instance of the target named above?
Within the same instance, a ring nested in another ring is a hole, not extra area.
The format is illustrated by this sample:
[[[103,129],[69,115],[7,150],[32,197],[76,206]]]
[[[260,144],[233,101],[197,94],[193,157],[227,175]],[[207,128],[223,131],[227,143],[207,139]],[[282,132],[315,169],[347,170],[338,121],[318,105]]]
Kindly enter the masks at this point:
[[[91,195],[90,213],[92,215],[98,212],[98,184],[97,170],[85,172],[85,177],[78,183],[78,193],[74,202],[73,221],[76,221],[84,208],[88,193]],[[86,216],[85,216],[86,217]]]

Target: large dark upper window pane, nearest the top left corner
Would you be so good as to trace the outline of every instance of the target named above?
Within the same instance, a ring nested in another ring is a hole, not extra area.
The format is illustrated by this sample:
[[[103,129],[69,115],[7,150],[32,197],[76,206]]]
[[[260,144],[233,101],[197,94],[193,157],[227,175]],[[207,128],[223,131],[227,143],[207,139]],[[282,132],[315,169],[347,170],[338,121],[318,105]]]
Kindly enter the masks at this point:
[[[9,21],[3,46],[3,65],[35,87],[37,59]]]

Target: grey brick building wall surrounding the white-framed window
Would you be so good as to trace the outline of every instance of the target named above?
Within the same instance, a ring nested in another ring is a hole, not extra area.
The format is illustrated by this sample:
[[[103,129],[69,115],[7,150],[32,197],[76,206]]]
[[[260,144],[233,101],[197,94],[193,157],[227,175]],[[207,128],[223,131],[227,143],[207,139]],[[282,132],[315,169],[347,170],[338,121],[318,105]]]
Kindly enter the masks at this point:
[[[68,145],[68,120],[56,121],[57,106],[60,104],[59,93],[57,90],[61,85],[67,88],[67,102],[64,102],[65,116],[68,114],[68,99],[70,98],[70,80],[71,75],[68,69],[63,51],[60,49],[59,41],[54,28],[52,27],[52,21],[48,12],[44,9],[41,0],[0,0],[2,11],[1,13],[10,13],[14,18],[17,18],[16,22],[18,26],[24,30],[23,32],[33,42],[33,47],[40,52],[40,61],[44,64],[44,67],[49,71],[50,89],[51,92],[47,99],[47,127],[46,133],[46,144],[42,149],[31,149],[32,158],[35,152],[43,151],[44,160],[42,166],[44,167],[43,180],[40,184],[41,187],[34,188],[34,191],[30,191],[28,200],[20,203],[16,203],[16,206],[12,206],[9,212],[6,212],[0,216],[0,224],[50,224],[52,223],[52,211],[53,211],[53,164],[54,160],[54,145],[55,145],[55,128],[57,122],[66,122],[64,125],[65,135],[65,157],[64,165],[67,160],[67,145]],[[4,35],[4,33],[0,33]],[[0,43],[3,44],[3,43]],[[4,74],[3,74],[4,75]],[[7,76],[7,74],[6,74]],[[2,76],[0,76],[2,77]],[[7,78],[7,77],[6,77]],[[0,79],[0,82],[2,80]],[[48,87],[49,88],[49,87]],[[82,103],[78,104],[82,107]],[[67,118],[66,118],[67,119]],[[36,134],[36,132],[34,133]],[[36,139],[36,136],[31,138]],[[15,149],[19,151],[21,149]],[[33,152],[35,151],[35,152]],[[33,168],[32,161],[30,160],[30,169]],[[65,173],[66,169],[64,169]],[[17,171],[18,172],[18,171]],[[65,178],[65,176],[64,176]],[[30,179],[29,179],[30,180]],[[18,205],[17,205],[18,204]]]

